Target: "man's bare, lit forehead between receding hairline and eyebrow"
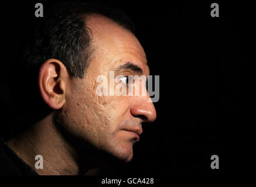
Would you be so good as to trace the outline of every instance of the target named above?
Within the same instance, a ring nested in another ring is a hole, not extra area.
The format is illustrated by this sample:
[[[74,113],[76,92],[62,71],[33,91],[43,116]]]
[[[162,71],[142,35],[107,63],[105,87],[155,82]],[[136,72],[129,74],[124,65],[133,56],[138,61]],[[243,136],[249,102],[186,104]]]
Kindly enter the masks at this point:
[[[96,54],[108,59],[108,65],[132,61],[145,71],[148,69],[145,51],[134,34],[105,16],[91,14],[86,21],[93,33]]]

